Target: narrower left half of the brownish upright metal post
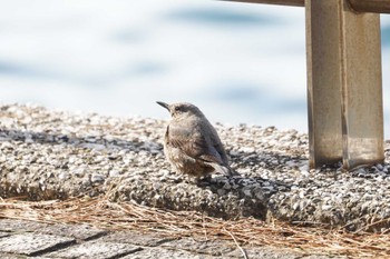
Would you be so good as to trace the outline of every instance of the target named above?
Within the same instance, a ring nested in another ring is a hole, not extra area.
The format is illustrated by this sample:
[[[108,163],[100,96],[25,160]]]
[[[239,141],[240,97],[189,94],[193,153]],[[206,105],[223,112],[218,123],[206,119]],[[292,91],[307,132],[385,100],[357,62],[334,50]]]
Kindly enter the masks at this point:
[[[310,167],[342,159],[340,1],[306,1]]]

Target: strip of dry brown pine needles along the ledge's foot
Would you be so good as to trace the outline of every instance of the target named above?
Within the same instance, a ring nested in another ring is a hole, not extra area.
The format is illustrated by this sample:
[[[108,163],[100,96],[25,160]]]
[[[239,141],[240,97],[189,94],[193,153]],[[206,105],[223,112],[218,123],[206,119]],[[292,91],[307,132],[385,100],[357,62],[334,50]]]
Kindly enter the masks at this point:
[[[348,232],[342,229],[265,223],[254,218],[222,220],[195,211],[168,211],[107,197],[65,201],[0,199],[0,218],[42,222],[89,223],[111,230],[159,232],[169,237],[224,239],[241,246],[275,246],[308,253],[345,255],[350,258],[389,258],[390,235]]]

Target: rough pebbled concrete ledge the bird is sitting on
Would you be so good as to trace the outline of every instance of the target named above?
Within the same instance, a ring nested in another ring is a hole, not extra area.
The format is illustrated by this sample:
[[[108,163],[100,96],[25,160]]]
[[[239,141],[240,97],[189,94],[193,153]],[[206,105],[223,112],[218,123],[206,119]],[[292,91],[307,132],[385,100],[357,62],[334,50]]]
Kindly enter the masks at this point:
[[[309,170],[306,135],[217,124],[241,176],[213,176],[196,185],[165,161],[165,127],[146,118],[1,106],[0,195],[39,200],[109,192],[113,200],[226,219],[389,227],[389,142],[384,165],[351,172],[341,165]]]

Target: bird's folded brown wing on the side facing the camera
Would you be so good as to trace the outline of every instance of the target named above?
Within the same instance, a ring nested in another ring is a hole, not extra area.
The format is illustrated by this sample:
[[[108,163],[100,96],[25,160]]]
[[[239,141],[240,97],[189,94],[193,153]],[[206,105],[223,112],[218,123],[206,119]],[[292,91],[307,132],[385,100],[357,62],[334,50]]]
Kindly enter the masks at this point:
[[[201,133],[194,133],[193,129],[183,129],[181,127],[169,126],[168,142],[175,148],[181,149],[188,157],[202,159],[206,162],[224,165],[221,155],[211,141]]]

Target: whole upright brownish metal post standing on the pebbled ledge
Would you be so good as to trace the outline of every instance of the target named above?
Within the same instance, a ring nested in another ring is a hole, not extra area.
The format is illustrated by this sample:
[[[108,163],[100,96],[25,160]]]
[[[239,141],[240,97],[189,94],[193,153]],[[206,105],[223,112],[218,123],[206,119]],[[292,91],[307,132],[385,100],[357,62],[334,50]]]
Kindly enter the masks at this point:
[[[310,166],[382,162],[380,23],[347,0],[306,1]]]

